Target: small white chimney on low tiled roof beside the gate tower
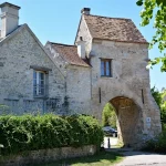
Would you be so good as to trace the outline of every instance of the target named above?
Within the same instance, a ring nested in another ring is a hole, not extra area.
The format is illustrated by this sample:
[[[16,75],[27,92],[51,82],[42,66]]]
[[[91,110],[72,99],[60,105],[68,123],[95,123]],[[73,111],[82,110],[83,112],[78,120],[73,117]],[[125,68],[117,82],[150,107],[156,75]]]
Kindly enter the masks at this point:
[[[82,40],[82,37],[80,37],[80,41],[76,42],[77,44],[77,54],[81,59],[85,59],[85,41]]]

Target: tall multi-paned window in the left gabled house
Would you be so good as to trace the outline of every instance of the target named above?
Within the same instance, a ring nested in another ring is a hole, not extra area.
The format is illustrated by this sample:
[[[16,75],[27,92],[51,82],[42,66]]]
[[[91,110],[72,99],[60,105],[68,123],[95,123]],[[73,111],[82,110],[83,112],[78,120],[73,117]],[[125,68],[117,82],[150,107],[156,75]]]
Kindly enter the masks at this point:
[[[33,94],[34,96],[45,95],[45,73],[42,71],[33,72]]]

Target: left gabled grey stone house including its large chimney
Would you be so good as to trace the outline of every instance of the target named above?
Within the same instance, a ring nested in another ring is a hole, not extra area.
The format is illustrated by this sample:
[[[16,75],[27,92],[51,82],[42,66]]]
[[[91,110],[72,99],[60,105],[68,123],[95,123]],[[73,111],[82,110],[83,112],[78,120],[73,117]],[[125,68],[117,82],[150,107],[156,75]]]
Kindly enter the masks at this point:
[[[45,113],[62,107],[63,73],[28,24],[19,25],[20,7],[6,2],[0,8],[0,104],[8,106],[1,112]]]

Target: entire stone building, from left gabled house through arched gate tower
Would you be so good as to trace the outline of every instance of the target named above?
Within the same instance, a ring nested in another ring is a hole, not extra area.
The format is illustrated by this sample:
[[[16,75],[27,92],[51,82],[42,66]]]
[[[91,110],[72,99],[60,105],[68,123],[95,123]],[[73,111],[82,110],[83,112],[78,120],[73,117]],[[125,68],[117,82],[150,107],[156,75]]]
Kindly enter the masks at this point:
[[[149,86],[148,43],[129,19],[91,14],[84,8],[74,45],[40,43],[19,7],[2,3],[0,103],[9,112],[90,114],[98,120],[110,102],[118,137],[139,146],[160,133]]]

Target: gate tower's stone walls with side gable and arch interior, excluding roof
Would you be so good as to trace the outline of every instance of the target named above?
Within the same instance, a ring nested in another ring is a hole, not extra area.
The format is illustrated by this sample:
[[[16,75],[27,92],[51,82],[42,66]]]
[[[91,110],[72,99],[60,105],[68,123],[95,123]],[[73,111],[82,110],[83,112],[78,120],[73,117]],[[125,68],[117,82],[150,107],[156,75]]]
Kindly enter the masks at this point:
[[[89,33],[84,23],[85,21],[82,20],[76,40],[80,37],[86,39],[90,52],[93,52],[91,114],[101,120],[104,105],[111,102],[118,117],[118,137],[123,139],[124,145],[139,147],[146,139],[162,131],[159,108],[151,94],[149,71],[146,70],[147,44],[104,40],[96,42],[86,38]],[[112,77],[101,77],[101,59],[112,59]],[[115,100],[117,105],[114,104]],[[124,103],[123,108],[121,101]],[[132,106],[128,107],[127,102],[124,101],[131,101]]]

